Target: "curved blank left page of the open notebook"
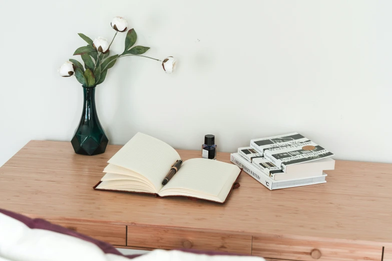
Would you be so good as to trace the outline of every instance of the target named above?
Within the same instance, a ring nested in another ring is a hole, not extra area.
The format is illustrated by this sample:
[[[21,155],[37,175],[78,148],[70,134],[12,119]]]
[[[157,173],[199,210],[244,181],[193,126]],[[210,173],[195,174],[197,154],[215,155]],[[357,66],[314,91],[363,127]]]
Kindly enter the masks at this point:
[[[138,132],[108,162],[144,175],[159,191],[162,180],[177,159],[181,158],[174,148]]]

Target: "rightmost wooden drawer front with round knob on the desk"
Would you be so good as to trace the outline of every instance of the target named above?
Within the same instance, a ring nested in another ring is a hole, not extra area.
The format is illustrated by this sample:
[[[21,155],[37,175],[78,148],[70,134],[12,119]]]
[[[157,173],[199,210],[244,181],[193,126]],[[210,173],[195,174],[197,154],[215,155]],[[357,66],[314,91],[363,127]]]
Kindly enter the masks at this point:
[[[382,244],[296,236],[254,236],[252,255],[302,261],[380,261]]]

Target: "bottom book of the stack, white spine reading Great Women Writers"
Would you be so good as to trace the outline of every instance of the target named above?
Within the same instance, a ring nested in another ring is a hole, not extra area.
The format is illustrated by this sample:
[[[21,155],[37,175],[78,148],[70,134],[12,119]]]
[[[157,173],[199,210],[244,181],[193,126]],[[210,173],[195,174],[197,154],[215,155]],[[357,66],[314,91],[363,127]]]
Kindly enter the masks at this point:
[[[257,169],[251,162],[242,157],[239,153],[231,153],[230,160],[240,168],[242,168],[246,173],[252,176],[254,179],[259,181],[268,189],[278,189],[278,188],[287,188],[294,186],[305,186],[305,185],[313,185],[319,183],[325,183],[326,174],[322,174],[320,176],[314,177],[306,177],[306,178],[295,178],[288,180],[273,180],[266,173]]]

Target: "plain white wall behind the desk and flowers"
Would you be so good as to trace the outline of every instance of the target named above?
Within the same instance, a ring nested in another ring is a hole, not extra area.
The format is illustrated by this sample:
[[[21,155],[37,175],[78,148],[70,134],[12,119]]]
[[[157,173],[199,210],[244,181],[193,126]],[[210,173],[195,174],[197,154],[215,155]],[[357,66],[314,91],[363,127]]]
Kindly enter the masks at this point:
[[[212,133],[220,151],[235,151],[298,131],[338,159],[392,162],[392,1],[2,0],[0,8],[0,165],[30,139],[71,139],[83,93],[57,68],[85,45],[78,32],[111,38],[115,15],[151,47],[147,55],[179,62],[172,75],[142,57],[109,71],[97,105],[111,143],[142,131],[200,149]]]

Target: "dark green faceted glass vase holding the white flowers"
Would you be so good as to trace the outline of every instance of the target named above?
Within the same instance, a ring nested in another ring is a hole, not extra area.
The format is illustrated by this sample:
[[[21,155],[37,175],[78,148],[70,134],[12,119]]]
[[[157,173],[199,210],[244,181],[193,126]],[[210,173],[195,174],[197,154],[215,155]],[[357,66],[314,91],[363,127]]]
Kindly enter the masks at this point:
[[[104,153],[109,140],[98,119],[95,107],[95,87],[83,86],[83,96],[82,117],[71,140],[72,146],[78,154]]]

